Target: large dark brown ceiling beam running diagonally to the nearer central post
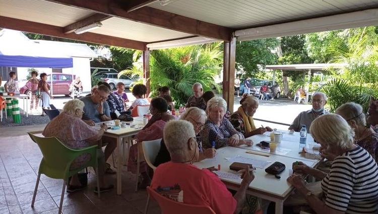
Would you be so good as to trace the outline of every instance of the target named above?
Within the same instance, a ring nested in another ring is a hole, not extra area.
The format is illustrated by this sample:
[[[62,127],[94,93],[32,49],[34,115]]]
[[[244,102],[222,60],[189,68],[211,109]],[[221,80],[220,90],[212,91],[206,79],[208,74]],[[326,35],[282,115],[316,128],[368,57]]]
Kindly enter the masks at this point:
[[[170,30],[180,31],[188,34],[205,36],[209,38],[230,41],[234,29],[211,24],[197,19],[180,16],[151,7],[143,7],[128,13],[128,6],[125,1],[120,0],[47,0],[49,2],[68,5],[71,7],[91,10],[95,13],[102,13],[131,21],[158,26]]]

